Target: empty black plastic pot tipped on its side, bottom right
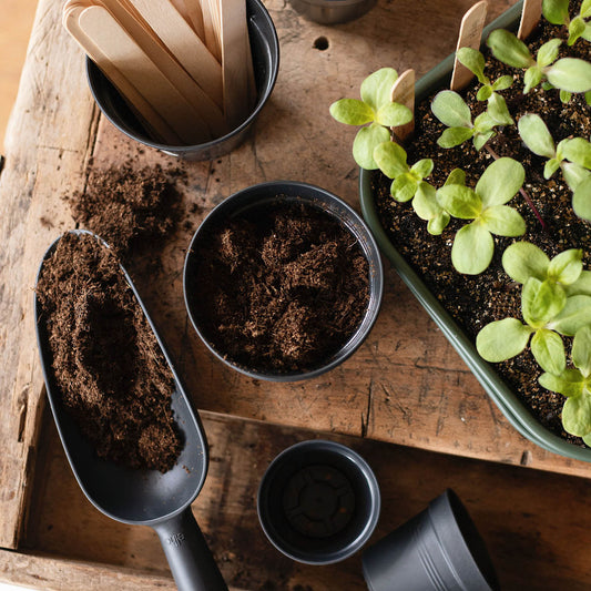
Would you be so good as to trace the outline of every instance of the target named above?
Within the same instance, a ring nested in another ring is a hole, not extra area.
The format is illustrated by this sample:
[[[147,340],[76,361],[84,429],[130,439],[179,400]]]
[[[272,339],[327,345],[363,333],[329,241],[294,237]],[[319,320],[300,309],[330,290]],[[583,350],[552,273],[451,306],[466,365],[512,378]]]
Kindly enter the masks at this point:
[[[485,542],[452,490],[367,549],[363,564],[370,591],[499,589]]]

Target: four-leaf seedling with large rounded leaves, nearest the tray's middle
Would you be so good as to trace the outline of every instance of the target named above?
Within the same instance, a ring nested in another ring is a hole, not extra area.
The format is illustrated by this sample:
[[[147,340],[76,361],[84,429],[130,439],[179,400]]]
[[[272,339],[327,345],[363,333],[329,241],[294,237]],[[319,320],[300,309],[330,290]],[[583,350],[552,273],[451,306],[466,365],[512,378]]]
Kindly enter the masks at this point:
[[[451,262],[459,273],[477,275],[490,265],[495,252],[492,234],[514,237],[526,232],[521,214],[506,205],[524,179],[526,171],[519,162],[501,157],[482,173],[475,190],[456,176],[437,191],[442,210],[454,217],[472,220],[454,238]]]

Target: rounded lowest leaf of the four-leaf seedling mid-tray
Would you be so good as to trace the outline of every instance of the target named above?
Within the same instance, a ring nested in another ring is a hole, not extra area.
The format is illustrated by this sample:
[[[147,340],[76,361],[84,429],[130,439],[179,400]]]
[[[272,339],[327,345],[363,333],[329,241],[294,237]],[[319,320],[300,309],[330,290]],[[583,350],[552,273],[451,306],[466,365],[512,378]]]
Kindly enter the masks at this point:
[[[490,265],[493,252],[495,241],[490,232],[478,222],[472,222],[456,233],[451,263],[458,273],[478,275]]]

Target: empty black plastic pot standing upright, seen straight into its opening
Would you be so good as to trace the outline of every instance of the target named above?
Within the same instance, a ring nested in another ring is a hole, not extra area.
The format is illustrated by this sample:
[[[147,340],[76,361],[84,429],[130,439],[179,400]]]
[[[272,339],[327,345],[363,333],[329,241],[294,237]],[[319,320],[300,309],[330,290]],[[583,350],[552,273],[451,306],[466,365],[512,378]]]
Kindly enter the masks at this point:
[[[378,483],[367,462],[323,439],[279,454],[258,489],[263,531],[277,550],[307,564],[354,554],[371,536],[379,508]]]

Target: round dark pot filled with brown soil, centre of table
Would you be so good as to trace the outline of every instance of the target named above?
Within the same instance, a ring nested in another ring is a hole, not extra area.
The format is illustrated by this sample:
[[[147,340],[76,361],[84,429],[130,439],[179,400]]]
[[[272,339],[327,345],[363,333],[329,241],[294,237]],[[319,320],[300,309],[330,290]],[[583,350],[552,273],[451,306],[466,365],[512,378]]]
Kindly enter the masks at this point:
[[[217,205],[184,267],[188,316],[210,350],[276,381],[318,376],[353,355],[376,320],[383,283],[377,245],[357,213],[288,181]]]

